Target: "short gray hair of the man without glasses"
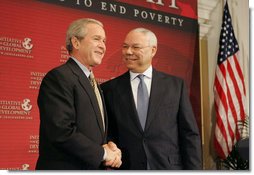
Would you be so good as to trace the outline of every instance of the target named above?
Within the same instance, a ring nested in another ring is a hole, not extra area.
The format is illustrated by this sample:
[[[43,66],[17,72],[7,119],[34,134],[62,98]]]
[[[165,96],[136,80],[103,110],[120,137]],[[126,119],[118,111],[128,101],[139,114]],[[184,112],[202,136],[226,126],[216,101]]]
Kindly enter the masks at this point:
[[[70,24],[70,26],[68,27],[68,30],[66,32],[66,40],[65,40],[66,49],[68,50],[69,53],[71,53],[72,49],[73,49],[71,38],[75,36],[79,40],[83,39],[87,33],[86,26],[87,26],[87,24],[90,24],[90,23],[98,24],[101,27],[103,27],[102,22],[100,22],[96,19],[92,19],[92,18],[78,19],[78,20],[73,21]]]

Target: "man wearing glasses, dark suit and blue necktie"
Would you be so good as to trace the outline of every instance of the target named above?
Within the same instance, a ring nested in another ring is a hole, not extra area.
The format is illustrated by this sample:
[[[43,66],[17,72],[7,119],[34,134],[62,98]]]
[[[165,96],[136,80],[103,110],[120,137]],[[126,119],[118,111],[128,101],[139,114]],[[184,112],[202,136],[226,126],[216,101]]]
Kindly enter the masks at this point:
[[[122,48],[129,71],[101,85],[109,137],[122,150],[120,168],[201,169],[200,135],[184,81],[152,68],[156,51],[153,32],[131,30]]]

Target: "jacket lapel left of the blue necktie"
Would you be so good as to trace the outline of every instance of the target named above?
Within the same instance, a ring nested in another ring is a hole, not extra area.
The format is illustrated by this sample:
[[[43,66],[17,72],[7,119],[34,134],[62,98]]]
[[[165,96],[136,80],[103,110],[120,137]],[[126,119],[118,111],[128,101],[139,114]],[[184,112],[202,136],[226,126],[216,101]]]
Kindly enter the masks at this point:
[[[133,94],[132,94],[132,89],[131,89],[131,83],[130,83],[130,73],[126,72],[122,80],[120,80],[122,83],[118,83],[118,90],[119,90],[119,97],[120,101],[123,101],[124,106],[122,108],[124,109],[123,111],[126,111],[129,113],[128,116],[131,116],[131,119],[133,122],[136,124],[137,128],[139,129],[140,132],[143,132],[142,126],[139,122],[138,118],[138,113],[136,110],[136,105],[134,102]]]

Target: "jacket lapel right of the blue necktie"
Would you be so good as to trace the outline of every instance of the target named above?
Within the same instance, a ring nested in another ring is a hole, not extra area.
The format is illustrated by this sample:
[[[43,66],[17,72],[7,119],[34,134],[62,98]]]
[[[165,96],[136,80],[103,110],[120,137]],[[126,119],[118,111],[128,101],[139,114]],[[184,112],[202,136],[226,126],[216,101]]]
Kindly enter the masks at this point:
[[[159,72],[153,69],[152,85],[149,99],[149,107],[146,119],[145,130],[147,130],[154,118],[156,117],[155,112],[157,111],[161,99],[163,99],[165,93],[165,86],[163,85],[162,77]]]

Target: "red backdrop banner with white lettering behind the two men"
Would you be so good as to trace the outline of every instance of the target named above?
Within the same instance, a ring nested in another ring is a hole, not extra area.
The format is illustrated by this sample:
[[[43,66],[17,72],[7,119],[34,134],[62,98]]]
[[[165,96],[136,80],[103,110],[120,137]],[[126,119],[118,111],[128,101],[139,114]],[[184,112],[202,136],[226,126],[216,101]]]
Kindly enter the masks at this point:
[[[0,169],[35,168],[37,95],[44,75],[68,59],[65,33],[78,18],[103,22],[107,52],[95,68],[99,82],[126,71],[121,45],[136,27],[158,37],[153,66],[182,77],[200,127],[196,0],[0,0]]]

